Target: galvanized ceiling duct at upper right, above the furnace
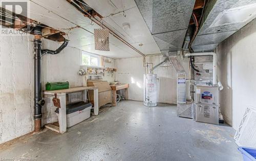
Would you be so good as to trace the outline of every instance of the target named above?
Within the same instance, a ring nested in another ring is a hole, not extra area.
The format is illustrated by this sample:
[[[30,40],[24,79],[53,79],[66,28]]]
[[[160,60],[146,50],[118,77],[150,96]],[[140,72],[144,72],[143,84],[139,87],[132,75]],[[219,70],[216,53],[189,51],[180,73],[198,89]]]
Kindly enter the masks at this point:
[[[208,1],[192,49],[195,52],[214,51],[221,41],[254,19],[255,10],[256,1],[252,0]]]

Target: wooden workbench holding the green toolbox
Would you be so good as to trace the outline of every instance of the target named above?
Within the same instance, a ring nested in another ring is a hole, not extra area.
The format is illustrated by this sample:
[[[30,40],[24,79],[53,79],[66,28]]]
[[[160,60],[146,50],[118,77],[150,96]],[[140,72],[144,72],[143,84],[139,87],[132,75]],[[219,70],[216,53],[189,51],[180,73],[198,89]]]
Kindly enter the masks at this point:
[[[67,118],[66,118],[66,94],[69,93],[76,93],[78,91],[82,91],[82,101],[87,101],[87,90],[93,90],[94,91],[94,115],[99,114],[99,105],[98,105],[98,87],[92,86],[92,87],[73,87],[69,89],[60,89],[60,90],[45,90],[43,91],[44,96],[47,95],[54,96],[54,94],[57,94],[57,98],[60,101],[60,108],[59,108],[59,126],[53,125],[53,124],[47,124],[45,125],[46,128],[51,129],[53,131],[64,133],[67,131]]]

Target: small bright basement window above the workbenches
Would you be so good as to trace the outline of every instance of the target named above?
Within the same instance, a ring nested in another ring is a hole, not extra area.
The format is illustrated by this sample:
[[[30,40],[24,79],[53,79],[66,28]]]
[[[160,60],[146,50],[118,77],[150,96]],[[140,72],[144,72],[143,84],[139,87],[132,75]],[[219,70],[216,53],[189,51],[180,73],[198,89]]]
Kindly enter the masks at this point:
[[[100,58],[98,55],[95,55],[95,54],[82,51],[81,60],[82,60],[81,65],[100,66],[100,63],[99,63]]]

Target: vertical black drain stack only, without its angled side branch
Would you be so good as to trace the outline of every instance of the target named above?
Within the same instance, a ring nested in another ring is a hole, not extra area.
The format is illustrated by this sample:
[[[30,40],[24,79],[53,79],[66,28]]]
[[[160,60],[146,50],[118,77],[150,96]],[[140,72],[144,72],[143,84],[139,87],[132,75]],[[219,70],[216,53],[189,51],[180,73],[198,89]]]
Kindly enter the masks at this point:
[[[35,131],[41,129],[42,102],[41,98],[41,27],[36,26],[34,31],[34,121]]]

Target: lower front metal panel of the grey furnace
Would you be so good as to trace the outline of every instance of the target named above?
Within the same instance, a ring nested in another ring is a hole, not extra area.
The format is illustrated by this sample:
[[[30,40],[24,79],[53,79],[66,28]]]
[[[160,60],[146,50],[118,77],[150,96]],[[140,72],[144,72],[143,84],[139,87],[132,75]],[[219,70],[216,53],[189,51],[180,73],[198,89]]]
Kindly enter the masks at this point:
[[[219,125],[219,106],[196,104],[195,121]]]

